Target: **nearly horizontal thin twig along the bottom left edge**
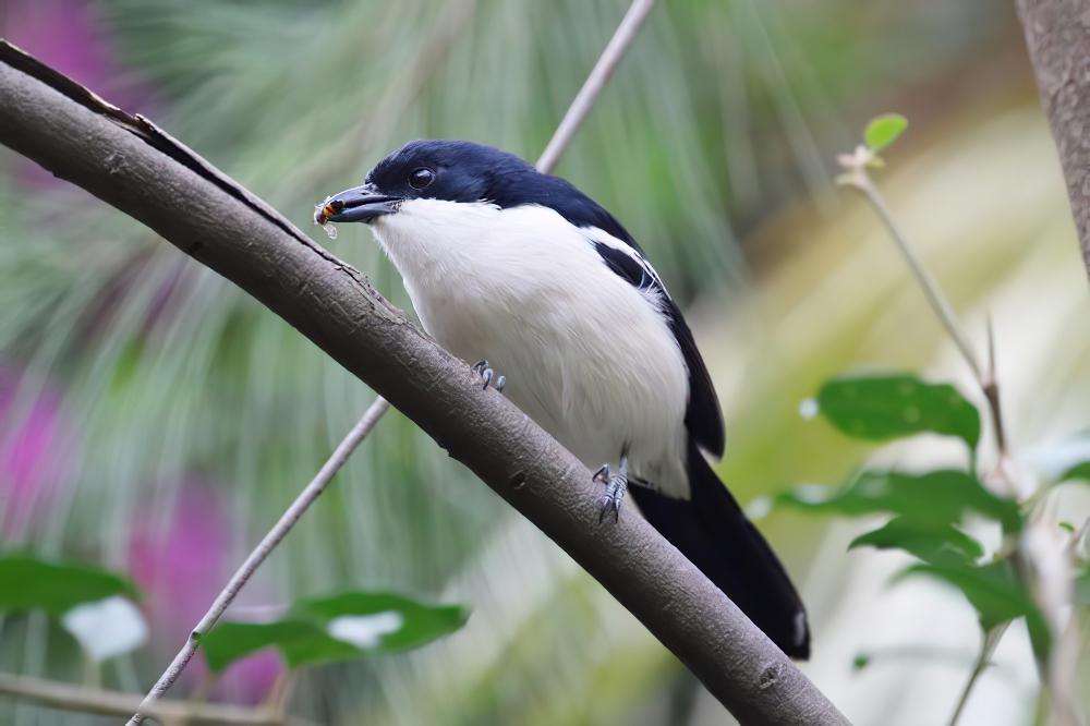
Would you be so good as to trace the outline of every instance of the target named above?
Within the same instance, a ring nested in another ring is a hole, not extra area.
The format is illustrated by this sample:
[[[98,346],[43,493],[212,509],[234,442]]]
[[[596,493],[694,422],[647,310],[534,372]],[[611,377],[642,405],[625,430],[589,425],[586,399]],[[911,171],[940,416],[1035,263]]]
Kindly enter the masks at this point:
[[[140,703],[140,697],[122,691],[88,688],[56,680],[0,674],[0,694],[25,699],[59,709],[124,718]],[[265,709],[161,700],[150,704],[146,715],[167,724],[222,724],[225,726],[284,726],[300,724]]]

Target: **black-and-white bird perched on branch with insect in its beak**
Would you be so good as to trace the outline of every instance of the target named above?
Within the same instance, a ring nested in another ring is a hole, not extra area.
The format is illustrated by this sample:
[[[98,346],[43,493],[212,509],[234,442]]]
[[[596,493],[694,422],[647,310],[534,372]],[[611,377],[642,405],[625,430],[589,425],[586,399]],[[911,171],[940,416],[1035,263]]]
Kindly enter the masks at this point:
[[[705,458],[723,456],[724,423],[692,331],[611,214],[517,155],[420,140],[315,221],[370,226],[427,334],[595,472],[600,523],[630,493],[780,650],[809,657],[798,592]]]

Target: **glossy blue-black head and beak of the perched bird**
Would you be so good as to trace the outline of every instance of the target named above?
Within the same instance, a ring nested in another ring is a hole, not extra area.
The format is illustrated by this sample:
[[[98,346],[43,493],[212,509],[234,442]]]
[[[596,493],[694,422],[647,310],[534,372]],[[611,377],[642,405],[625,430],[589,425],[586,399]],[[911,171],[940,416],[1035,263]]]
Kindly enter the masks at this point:
[[[476,204],[498,202],[518,187],[519,177],[536,176],[517,156],[464,141],[428,140],[405,144],[371,170],[363,185],[330,196],[315,221],[362,221],[411,210],[419,199]]]

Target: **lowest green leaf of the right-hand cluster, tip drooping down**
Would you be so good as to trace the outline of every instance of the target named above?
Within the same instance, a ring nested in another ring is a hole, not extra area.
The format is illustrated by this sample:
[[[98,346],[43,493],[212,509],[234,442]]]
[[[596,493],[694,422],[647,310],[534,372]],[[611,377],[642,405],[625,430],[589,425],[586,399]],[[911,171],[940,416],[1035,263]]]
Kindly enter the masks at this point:
[[[1030,639],[1039,656],[1045,656],[1051,643],[1049,626],[1033,598],[1006,561],[989,565],[913,565],[903,574],[925,574],[954,585],[977,609],[984,630],[1025,617]]]

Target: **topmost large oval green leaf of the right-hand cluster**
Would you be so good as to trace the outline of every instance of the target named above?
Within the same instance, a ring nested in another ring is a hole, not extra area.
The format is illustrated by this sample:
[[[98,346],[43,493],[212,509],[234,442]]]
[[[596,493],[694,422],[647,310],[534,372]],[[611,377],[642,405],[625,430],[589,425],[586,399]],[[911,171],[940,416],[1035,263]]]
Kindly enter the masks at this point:
[[[976,448],[980,414],[947,384],[912,375],[839,377],[818,394],[822,414],[838,429],[869,440],[924,432],[957,436]]]

